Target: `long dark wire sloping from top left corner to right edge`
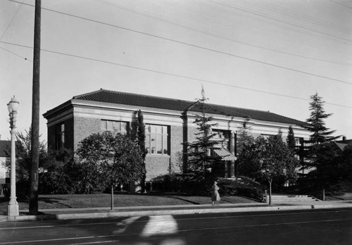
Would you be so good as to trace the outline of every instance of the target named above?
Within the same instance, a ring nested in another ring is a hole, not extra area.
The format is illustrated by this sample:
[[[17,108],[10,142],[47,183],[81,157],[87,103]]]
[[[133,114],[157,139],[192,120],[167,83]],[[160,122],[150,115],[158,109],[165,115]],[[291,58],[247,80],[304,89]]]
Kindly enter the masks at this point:
[[[17,1],[14,1],[14,0],[11,0],[11,1],[17,2]],[[31,4],[25,4],[25,5],[34,7]],[[119,28],[121,30],[127,30],[127,31],[130,31],[130,32],[136,32],[136,33],[139,33],[139,34],[144,34],[144,35],[149,36],[149,37],[156,37],[158,39],[163,39],[163,40],[167,40],[167,41],[170,41],[170,42],[175,42],[177,44],[184,44],[184,45],[191,46],[191,47],[194,47],[194,48],[197,48],[197,49],[203,49],[203,50],[215,52],[215,53],[218,53],[218,54],[225,54],[227,56],[241,58],[241,59],[244,59],[246,61],[253,61],[253,62],[256,62],[256,63],[260,63],[260,64],[264,64],[264,65],[270,65],[270,66],[273,66],[273,67],[276,67],[276,68],[281,68],[281,69],[284,69],[284,70],[291,70],[291,71],[294,71],[296,73],[312,75],[314,77],[320,77],[320,78],[324,78],[324,79],[327,79],[327,80],[334,80],[336,82],[341,82],[341,83],[344,83],[344,84],[352,85],[352,82],[346,82],[346,81],[343,81],[343,80],[334,79],[332,77],[325,77],[323,75],[317,75],[317,74],[314,74],[314,73],[308,73],[308,72],[305,72],[305,71],[302,71],[302,70],[296,70],[296,69],[293,69],[293,68],[287,68],[287,67],[284,67],[282,65],[275,65],[275,64],[272,64],[272,63],[264,62],[264,61],[258,61],[258,60],[255,60],[253,58],[246,58],[246,57],[243,57],[243,56],[238,56],[236,54],[230,54],[230,53],[226,53],[226,52],[223,52],[223,51],[218,51],[218,50],[215,50],[215,49],[210,49],[210,48],[206,48],[206,47],[203,47],[203,46],[198,46],[198,45],[195,45],[195,44],[189,44],[187,42],[182,42],[182,41],[178,41],[178,40],[175,40],[175,39],[170,39],[170,38],[167,38],[167,37],[161,37],[161,36],[158,36],[156,34],[149,34],[149,33],[146,33],[146,32],[132,30],[132,29],[127,28],[127,27],[121,27],[121,26],[118,26],[118,25],[104,23],[104,22],[99,21],[99,20],[92,20],[92,19],[89,19],[89,18],[73,15],[73,14],[70,14],[70,13],[63,13],[61,11],[54,11],[54,10],[49,9],[49,8],[42,8],[42,9],[44,9],[46,11],[51,11],[51,12],[54,12],[54,13],[59,13],[59,14],[62,14],[62,15],[67,15],[67,16],[70,16],[70,17],[73,17],[73,18],[79,18],[79,19],[82,19],[82,20],[87,20],[87,21],[93,22],[93,23],[99,23],[101,25],[107,25],[107,26],[110,26],[110,27],[116,27],[116,28]]]

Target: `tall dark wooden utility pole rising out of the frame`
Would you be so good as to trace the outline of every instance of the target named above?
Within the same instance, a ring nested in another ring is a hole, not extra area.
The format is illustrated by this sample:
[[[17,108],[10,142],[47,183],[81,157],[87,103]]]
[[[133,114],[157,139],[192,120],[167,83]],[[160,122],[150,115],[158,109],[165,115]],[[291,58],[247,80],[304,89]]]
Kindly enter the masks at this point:
[[[40,77],[40,19],[42,0],[35,0],[34,11],[34,51],[32,87],[32,139],[30,171],[30,214],[38,213],[38,168],[39,168],[39,77]]]

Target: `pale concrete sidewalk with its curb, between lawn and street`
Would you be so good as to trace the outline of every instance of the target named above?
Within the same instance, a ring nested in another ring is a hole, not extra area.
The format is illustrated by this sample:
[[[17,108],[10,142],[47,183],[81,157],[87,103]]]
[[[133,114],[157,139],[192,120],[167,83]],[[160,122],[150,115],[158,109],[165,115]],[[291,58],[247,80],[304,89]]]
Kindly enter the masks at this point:
[[[68,220],[84,218],[130,217],[150,215],[182,215],[195,213],[237,213],[256,211],[289,211],[321,208],[352,208],[352,201],[290,201],[286,203],[239,203],[173,206],[133,206],[111,208],[58,208],[42,209],[39,215],[27,215],[28,210],[20,210],[20,215],[8,217],[0,214],[0,222],[23,220]]]

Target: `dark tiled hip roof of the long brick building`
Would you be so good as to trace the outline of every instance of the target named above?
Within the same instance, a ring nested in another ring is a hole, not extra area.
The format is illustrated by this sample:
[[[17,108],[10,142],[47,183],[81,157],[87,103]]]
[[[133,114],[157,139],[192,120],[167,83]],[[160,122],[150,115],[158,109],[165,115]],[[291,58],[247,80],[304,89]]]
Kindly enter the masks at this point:
[[[157,96],[147,96],[142,94],[131,94],[125,92],[116,92],[106,89],[99,89],[87,94],[73,96],[75,100],[96,101],[103,103],[115,103],[127,106],[140,106],[156,109],[165,109],[180,111],[181,113],[194,105],[195,101],[184,101],[180,99],[169,99]],[[201,112],[200,106],[191,107],[189,111]],[[234,116],[239,118],[251,118],[253,120],[262,120],[267,122],[281,122],[289,125],[306,125],[306,122],[287,118],[282,115],[271,113],[270,111],[257,111],[246,108],[237,108],[231,106],[220,106],[206,103],[206,113]]]

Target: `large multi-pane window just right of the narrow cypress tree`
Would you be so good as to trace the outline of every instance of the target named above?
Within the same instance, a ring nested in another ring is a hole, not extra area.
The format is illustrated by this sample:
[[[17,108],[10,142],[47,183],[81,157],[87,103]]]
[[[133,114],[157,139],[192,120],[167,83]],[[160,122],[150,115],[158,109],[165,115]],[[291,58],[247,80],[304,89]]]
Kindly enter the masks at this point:
[[[168,126],[146,124],[146,150],[149,154],[168,155]]]

